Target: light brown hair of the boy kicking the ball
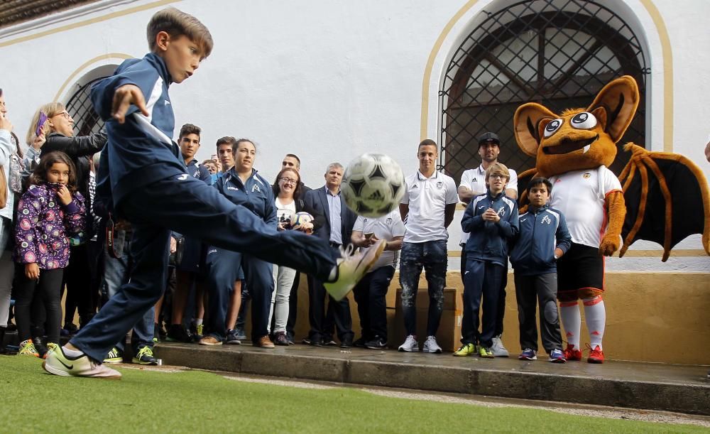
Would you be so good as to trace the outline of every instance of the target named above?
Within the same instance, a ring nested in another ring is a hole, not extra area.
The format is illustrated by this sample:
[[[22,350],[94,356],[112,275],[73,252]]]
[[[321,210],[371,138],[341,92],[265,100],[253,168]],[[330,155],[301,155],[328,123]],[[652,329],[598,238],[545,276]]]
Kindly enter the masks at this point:
[[[207,58],[212,53],[214,42],[212,35],[200,20],[175,8],[167,8],[158,11],[153,15],[148,23],[148,47],[155,52],[155,36],[158,33],[166,32],[170,38],[187,36],[192,42],[200,45],[202,58]]]

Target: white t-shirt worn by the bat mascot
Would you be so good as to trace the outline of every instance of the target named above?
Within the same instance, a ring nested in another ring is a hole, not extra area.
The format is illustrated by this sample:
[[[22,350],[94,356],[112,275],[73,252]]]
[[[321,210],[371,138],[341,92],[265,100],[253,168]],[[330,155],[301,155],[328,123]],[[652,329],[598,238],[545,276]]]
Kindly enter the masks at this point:
[[[601,235],[606,232],[606,196],[622,191],[616,175],[605,166],[599,166],[555,175],[550,177],[550,182],[550,207],[564,215],[572,242],[599,247]]]

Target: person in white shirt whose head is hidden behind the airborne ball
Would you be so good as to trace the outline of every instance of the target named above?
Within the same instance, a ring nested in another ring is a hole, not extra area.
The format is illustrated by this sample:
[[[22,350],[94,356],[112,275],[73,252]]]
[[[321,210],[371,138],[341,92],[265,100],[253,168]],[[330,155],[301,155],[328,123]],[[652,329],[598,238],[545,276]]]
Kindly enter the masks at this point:
[[[378,240],[386,241],[385,251],[371,270],[353,289],[360,315],[362,335],[355,342],[371,349],[387,347],[387,304],[385,296],[395,273],[405,228],[399,210],[383,217],[359,216],[355,220],[350,240],[354,246],[369,249]]]

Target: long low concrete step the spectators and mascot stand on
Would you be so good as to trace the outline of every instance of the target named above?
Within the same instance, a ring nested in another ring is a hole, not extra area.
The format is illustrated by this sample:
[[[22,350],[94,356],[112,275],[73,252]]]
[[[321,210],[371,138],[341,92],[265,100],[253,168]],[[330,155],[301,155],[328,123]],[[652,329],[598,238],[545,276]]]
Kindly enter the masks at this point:
[[[710,416],[709,367],[701,366],[552,364],[546,357],[523,362],[307,345],[261,349],[160,343],[155,355],[163,364],[211,371]]]

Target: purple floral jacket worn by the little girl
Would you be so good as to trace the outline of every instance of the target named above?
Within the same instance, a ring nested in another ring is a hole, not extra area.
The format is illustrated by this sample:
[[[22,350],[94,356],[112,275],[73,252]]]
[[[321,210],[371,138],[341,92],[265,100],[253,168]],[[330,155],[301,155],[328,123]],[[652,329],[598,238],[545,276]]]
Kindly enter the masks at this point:
[[[43,270],[69,264],[67,234],[84,228],[84,197],[74,193],[69,205],[62,205],[53,185],[31,185],[17,207],[15,261],[37,263]]]

